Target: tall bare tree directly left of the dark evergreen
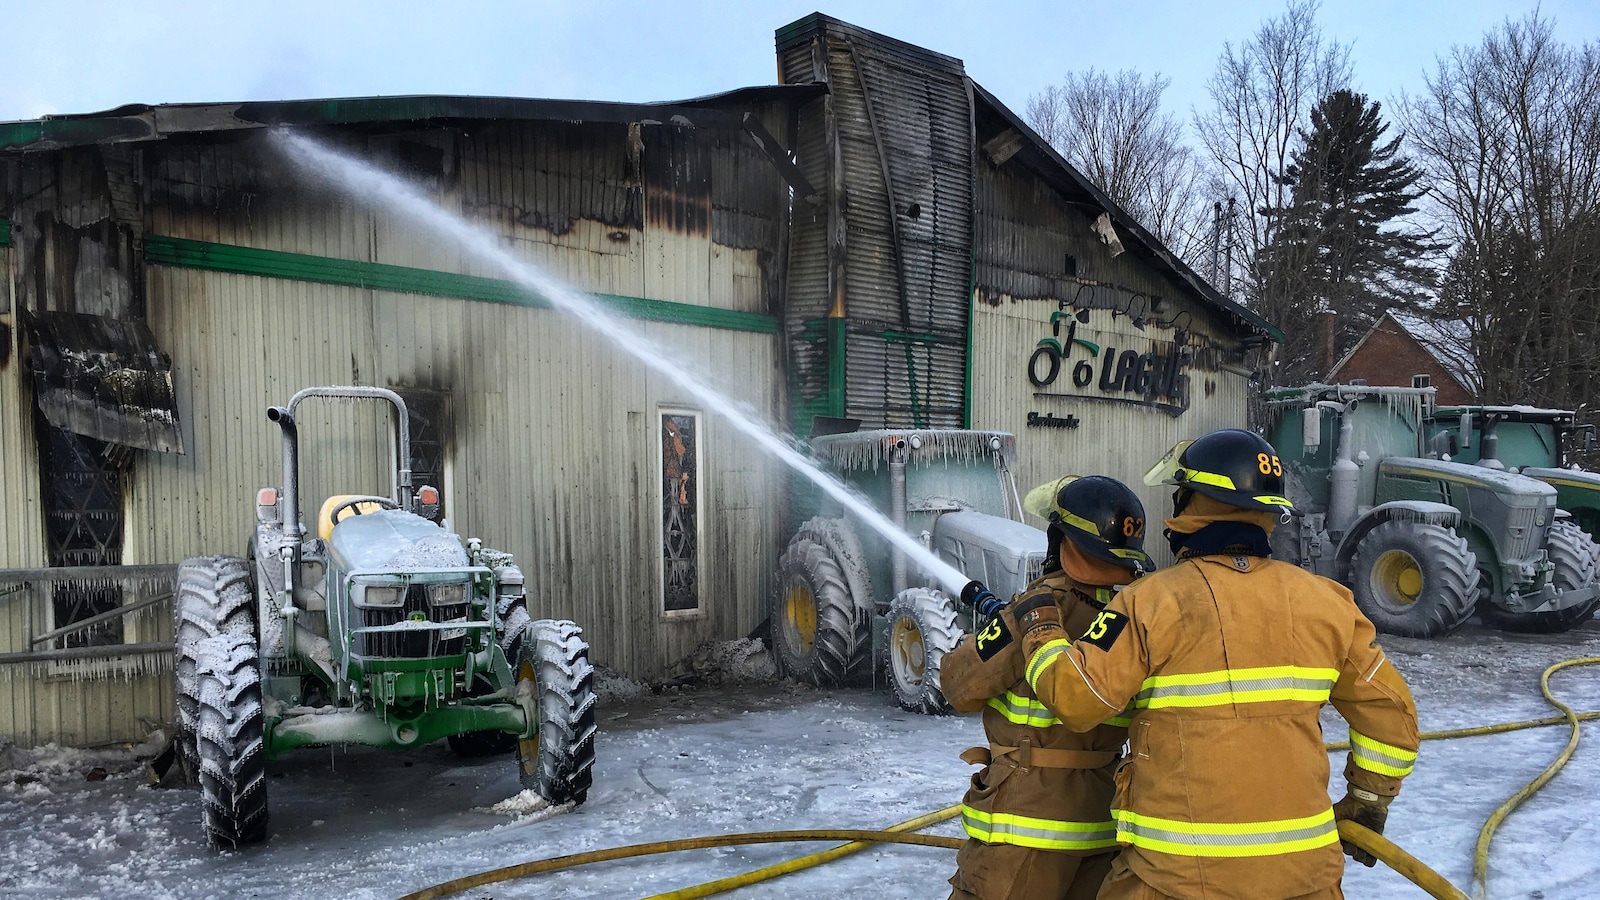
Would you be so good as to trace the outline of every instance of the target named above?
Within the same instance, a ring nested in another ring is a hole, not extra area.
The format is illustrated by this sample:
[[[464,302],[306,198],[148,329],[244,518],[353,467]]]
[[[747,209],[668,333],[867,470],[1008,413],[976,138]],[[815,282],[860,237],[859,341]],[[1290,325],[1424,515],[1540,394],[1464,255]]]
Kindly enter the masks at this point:
[[[1323,38],[1315,0],[1290,0],[1238,46],[1227,43],[1206,82],[1211,109],[1195,114],[1195,133],[1214,167],[1211,191],[1237,197],[1234,277],[1254,299],[1256,259],[1272,242],[1266,210],[1290,205],[1290,154],[1312,104],[1350,83],[1350,48]]]

